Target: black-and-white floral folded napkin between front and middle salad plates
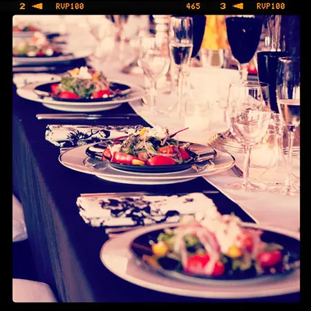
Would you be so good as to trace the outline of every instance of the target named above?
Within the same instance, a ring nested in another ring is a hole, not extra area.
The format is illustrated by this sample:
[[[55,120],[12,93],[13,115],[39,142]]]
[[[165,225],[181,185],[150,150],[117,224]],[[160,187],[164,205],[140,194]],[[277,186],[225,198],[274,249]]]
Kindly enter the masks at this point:
[[[184,196],[80,196],[79,214],[92,227],[120,227],[177,223],[185,216],[215,207],[204,194]]]

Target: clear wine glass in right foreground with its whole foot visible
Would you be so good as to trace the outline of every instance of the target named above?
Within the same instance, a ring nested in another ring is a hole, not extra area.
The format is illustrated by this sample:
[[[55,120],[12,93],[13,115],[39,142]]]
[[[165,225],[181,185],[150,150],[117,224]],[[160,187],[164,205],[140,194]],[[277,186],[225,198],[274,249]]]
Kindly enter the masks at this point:
[[[261,82],[238,82],[229,86],[227,120],[229,128],[243,146],[243,182],[227,185],[232,189],[262,191],[265,185],[249,182],[251,149],[263,138],[270,124],[271,111],[267,107],[269,86]]]

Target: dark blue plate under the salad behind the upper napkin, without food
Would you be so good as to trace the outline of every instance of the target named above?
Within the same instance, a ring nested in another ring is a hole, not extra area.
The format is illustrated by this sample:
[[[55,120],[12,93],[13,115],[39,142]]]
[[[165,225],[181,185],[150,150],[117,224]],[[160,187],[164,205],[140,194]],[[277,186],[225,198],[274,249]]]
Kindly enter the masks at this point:
[[[117,91],[117,94],[113,94],[113,95],[109,95],[107,97],[102,97],[102,98],[92,98],[92,97],[88,97],[88,98],[82,98],[79,100],[70,100],[70,99],[64,99],[64,98],[59,98],[59,97],[53,97],[50,89],[50,86],[52,84],[59,84],[60,82],[49,82],[46,84],[41,84],[39,86],[37,86],[35,88],[35,92],[38,92],[38,95],[40,94],[40,92],[44,92],[46,93],[46,95],[50,95],[50,97],[54,98],[55,100],[59,101],[59,102],[106,102],[109,100],[112,100],[115,97],[124,97],[126,95],[128,95],[131,92],[131,87],[126,85],[126,84],[121,84],[121,83],[116,83],[116,82],[111,82],[110,84],[110,88],[113,91]]]

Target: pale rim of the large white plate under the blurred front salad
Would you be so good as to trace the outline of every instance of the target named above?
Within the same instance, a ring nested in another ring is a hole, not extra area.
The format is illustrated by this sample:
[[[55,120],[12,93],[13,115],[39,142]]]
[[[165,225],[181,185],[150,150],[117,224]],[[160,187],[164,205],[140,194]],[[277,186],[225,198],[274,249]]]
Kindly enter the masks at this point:
[[[245,223],[247,224],[247,223]],[[300,241],[300,234],[299,232],[293,232],[291,230],[288,229],[283,229],[281,227],[275,227],[275,226],[269,226],[269,225],[259,225],[257,223],[249,223],[251,224],[253,227],[257,227],[258,229],[268,229],[272,232],[276,232],[276,233],[281,233],[281,234],[285,234],[288,235],[292,238],[298,238]],[[131,250],[129,249],[129,245],[131,243],[131,241],[138,237],[140,234],[145,234],[147,232],[149,232],[150,230],[153,229],[162,229],[163,227],[170,227],[171,224],[170,223],[164,223],[164,224],[160,224],[160,225],[152,225],[149,228],[146,227],[141,227],[138,229],[133,229],[133,231],[131,232],[125,232],[124,234],[120,234],[120,236],[117,236],[113,239],[109,239],[108,241],[106,241],[101,249],[100,249],[100,261],[102,261],[102,264],[111,272],[113,273],[115,276],[120,277],[121,279],[128,281],[129,283],[133,283],[135,285],[141,286],[142,288],[147,288],[149,290],[156,290],[158,292],[164,292],[164,293],[168,293],[168,294],[176,294],[178,296],[189,296],[189,297],[194,297],[194,298],[205,298],[205,299],[249,299],[249,298],[263,298],[263,297],[268,297],[268,296],[279,296],[279,295],[283,295],[283,294],[292,294],[292,293],[296,293],[296,292],[300,292],[300,274],[299,274],[299,283],[298,285],[291,285],[290,287],[287,288],[276,288],[274,290],[267,290],[266,292],[263,291],[256,291],[256,292],[221,292],[221,290],[213,290],[212,292],[207,291],[207,290],[187,290],[187,289],[180,289],[177,287],[178,281],[173,280],[176,282],[176,287],[172,287],[170,285],[163,285],[163,284],[157,284],[157,283],[151,283],[149,281],[144,281],[142,279],[138,279],[138,277],[136,276],[131,276],[129,274],[126,274],[126,272],[122,272],[122,270],[114,270],[112,269],[109,265],[105,264],[105,260],[103,258],[104,256],[104,251],[105,248],[107,247],[107,245],[111,244],[111,243],[118,243],[120,241],[120,239],[122,238],[126,238],[126,236],[130,236],[131,238],[127,237],[126,245],[122,246],[122,249],[126,250],[126,252],[128,252],[129,254],[131,254]],[[118,243],[118,245],[121,245],[121,243]],[[120,248],[119,248],[120,249]],[[125,254],[124,254],[125,257]],[[131,260],[129,258],[129,260]],[[138,269],[144,270],[141,267],[139,267],[137,265]],[[146,271],[146,270],[144,270]],[[299,270],[300,271],[300,270]],[[298,272],[298,270],[296,271]],[[150,272],[149,272],[150,273]],[[125,276],[124,276],[125,274]],[[155,272],[153,272],[153,274],[155,274]],[[165,276],[162,276],[163,278]],[[197,286],[202,286],[202,288],[205,285],[197,285]],[[258,285],[260,286],[260,285]],[[264,286],[264,285],[263,285]]]

